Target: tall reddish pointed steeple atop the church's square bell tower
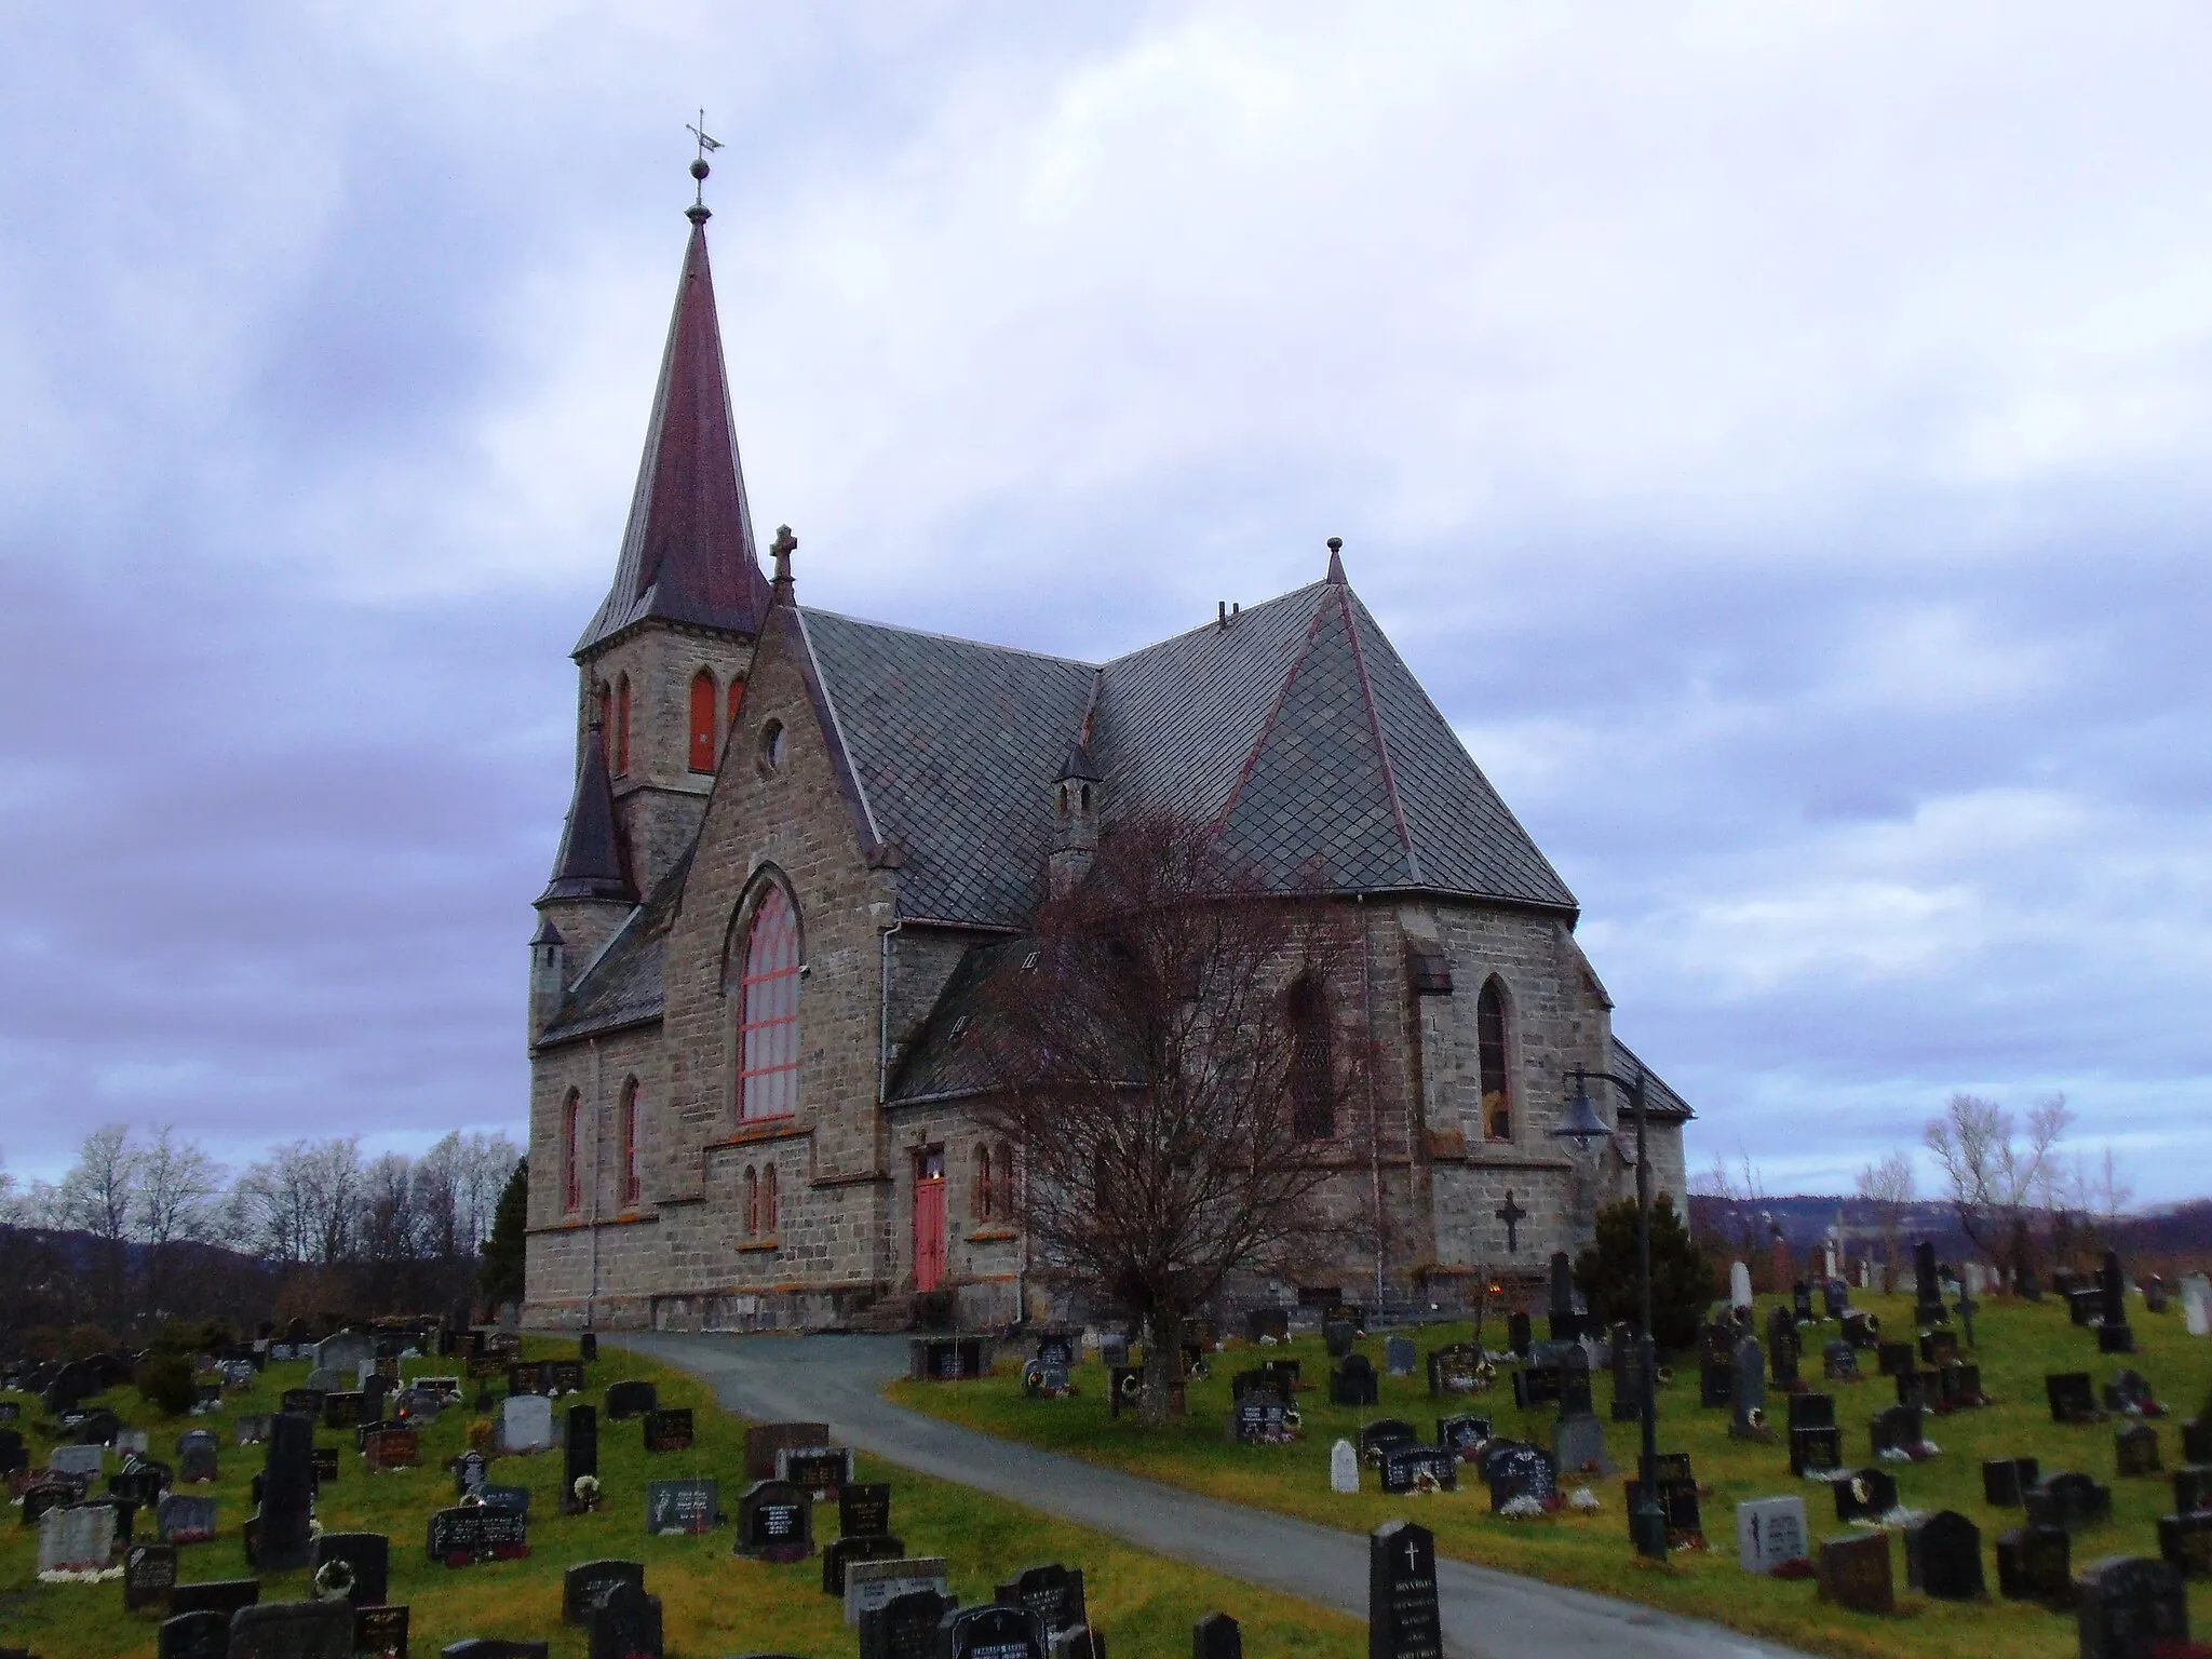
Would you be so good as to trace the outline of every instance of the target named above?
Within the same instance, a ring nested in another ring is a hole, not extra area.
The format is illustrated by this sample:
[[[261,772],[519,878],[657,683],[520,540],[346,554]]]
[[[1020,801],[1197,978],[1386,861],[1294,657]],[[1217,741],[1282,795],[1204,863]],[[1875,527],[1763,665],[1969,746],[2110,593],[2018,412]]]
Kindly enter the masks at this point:
[[[695,164],[695,173],[701,168]],[[584,628],[577,655],[648,617],[750,635],[768,615],[768,582],[752,540],[721,363],[714,274],[706,259],[710,215],[703,201],[695,201],[686,217],[692,232],[661,352],[630,524],[622,535],[615,586]]]

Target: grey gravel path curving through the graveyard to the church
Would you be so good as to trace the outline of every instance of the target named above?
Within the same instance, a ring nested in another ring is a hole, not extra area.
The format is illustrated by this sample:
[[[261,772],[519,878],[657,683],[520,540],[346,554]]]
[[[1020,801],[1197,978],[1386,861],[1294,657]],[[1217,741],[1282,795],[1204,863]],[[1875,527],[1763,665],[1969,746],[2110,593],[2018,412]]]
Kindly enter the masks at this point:
[[[606,1336],[710,1383],[754,1420],[827,1420],[841,1444],[1110,1533],[1139,1548],[1367,1617],[1367,1540],[925,1418],[883,1398],[898,1336]],[[1621,1540],[1624,1571],[1628,1540]],[[1803,1659],[1699,1619],[1438,1559],[1451,1659]]]

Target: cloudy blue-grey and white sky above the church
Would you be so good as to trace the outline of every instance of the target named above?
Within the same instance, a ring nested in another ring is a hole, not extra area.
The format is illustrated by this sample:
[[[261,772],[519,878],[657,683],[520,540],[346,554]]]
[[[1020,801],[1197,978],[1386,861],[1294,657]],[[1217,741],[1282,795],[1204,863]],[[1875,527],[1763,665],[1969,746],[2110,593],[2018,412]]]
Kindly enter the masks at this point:
[[[18,1175],[520,1130],[703,104],[807,602],[1104,657],[1343,535],[1694,1164],[2064,1091],[2212,1190],[2203,9],[0,18]]]

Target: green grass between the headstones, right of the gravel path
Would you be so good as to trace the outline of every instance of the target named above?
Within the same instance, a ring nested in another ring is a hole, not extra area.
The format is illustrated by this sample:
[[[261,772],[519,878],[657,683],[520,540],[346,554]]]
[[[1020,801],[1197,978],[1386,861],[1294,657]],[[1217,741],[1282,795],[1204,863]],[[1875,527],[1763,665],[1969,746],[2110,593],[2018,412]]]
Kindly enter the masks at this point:
[[[1880,1314],[1885,1334],[1907,1334],[1911,1301],[1902,1296],[1858,1296],[1858,1305]],[[1765,1329],[1767,1305],[1759,1310]],[[1807,1332],[1807,1374],[1818,1378],[1820,1343],[1836,1334],[1834,1325]],[[1621,1478],[1590,1482],[1604,1511],[1537,1522],[1506,1522],[1489,1513],[1489,1493],[1478,1482],[1464,1482],[1455,1493],[1420,1498],[1385,1498],[1374,1471],[1363,1471],[1365,1489],[1352,1498],[1329,1491],[1329,1447],[1354,1438],[1365,1422],[1405,1418],[1422,1436],[1433,1433],[1440,1411],[1484,1411],[1498,1433],[1551,1444],[1553,1407],[1517,1411],[1504,1374],[1491,1394],[1460,1398],[1440,1407],[1429,1400],[1422,1378],[1380,1380],[1380,1407],[1354,1411],[1327,1402],[1329,1358],[1318,1338],[1285,1347],[1245,1347],[1232,1343],[1212,1358],[1212,1378],[1190,1385],[1190,1416],[1164,1429],[1139,1429],[1128,1416],[1110,1422],[1106,1416],[1106,1374],[1091,1363],[1077,1369],[1082,1394],[1068,1400],[1026,1400],[1015,1376],[1015,1360],[973,1383],[894,1383],[891,1398],[900,1405],[982,1429],[987,1433],[1048,1447],[1172,1486],[1228,1498],[1239,1504],[1298,1515],[1325,1526],[1367,1531],[1405,1515],[1433,1528],[1436,1546],[1484,1566],[1528,1573],[1555,1584],[1573,1584],[1674,1613],[1714,1619],[1736,1630],[1774,1637],[1814,1652],[1869,1655],[1880,1659],[2017,1659],[2022,1655],[2073,1655],[2077,1650],[2073,1617],[2059,1617],[2031,1604],[1997,1599],[1995,1540],[2006,1526],[2017,1526],[2017,1509],[1991,1509],[1982,1502],[1982,1458],[2033,1455],[2044,1473],[2077,1469],[2112,1486],[2112,1520],[2079,1533],[2073,1544],[2075,1571],[2104,1555],[2157,1555],[2154,1517],[2172,1511],[2172,1482],[2166,1478],[2115,1480],[2112,1429],[2057,1427],[2044,1398],[2046,1371],[2086,1369],[2101,1389],[2119,1365],[2135,1365],[2172,1407],[2174,1416],[2159,1422],[2166,1467],[2179,1462],[2179,1418],[2194,1413],[2212,1385],[2212,1343],[2190,1338],[2181,1314],[2150,1316],[2137,1303],[2135,1334],[2139,1354],[2132,1360],[2099,1360],[2095,1334],[2075,1329],[2057,1298],[2042,1305],[1989,1298],[1975,1321],[1980,1336],[1982,1387],[1997,1405],[1931,1416],[1927,1438],[1942,1455],[1922,1464],[1885,1464],[1898,1480],[1900,1500],[1911,1509],[1955,1509],[1982,1528],[1984,1573],[1991,1599],[1978,1606],[1929,1601],[1905,1590],[1902,1540],[1893,1551],[1898,1613],[1889,1617],[1840,1613],[1816,1601],[1809,1579],[1763,1579],[1736,1566],[1734,1504],[1745,1498],[1801,1493],[1814,1540],[1849,1535],[1854,1528],[1836,1522],[1827,1486],[1790,1475],[1790,1451],[1778,1431],[1776,1444],[1739,1444],[1728,1438],[1728,1411],[1701,1411],[1697,1405],[1697,1369],[1674,1367],[1674,1383],[1659,1391],[1659,1449],[1688,1451],[1701,1486],[1705,1535],[1710,1551],[1677,1551],[1666,1568],[1637,1559],[1628,1544],[1626,1491]],[[1469,1325],[1438,1325],[1420,1334],[1420,1352],[1447,1340],[1464,1340]],[[1486,1329],[1491,1343],[1504,1340],[1502,1321]],[[1363,1352],[1380,1369],[1380,1338],[1363,1343]],[[1230,1407],[1230,1374],[1256,1365],[1261,1356],[1290,1354],[1303,1363],[1310,1385],[1298,1396],[1303,1440],[1287,1447],[1237,1447],[1223,1438]],[[1874,1354],[1860,1363],[1871,1371]],[[1889,1378],[1820,1385],[1836,1396],[1836,1422],[1843,1427],[1843,1455],[1851,1467],[1867,1462],[1867,1420],[1896,1400]],[[1597,1378],[1595,1405],[1606,1416],[1610,1387]],[[1770,1396],[1770,1418],[1785,1422],[1783,1402]],[[1624,1473],[1632,1473],[1637,1425],[1606,1425],[1606,1442]],[[1577,1482],[1562,1475],[1562,1491]],[[2212,1599],[2201,1586],[2190,1593],[2192,1628],[2212,1619]]]

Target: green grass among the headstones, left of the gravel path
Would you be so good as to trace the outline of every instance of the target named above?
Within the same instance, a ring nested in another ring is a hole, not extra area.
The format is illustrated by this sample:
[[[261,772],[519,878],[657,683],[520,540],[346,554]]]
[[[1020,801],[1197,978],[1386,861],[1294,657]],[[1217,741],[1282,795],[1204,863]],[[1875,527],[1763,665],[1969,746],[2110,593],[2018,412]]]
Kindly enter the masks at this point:
[[[524,1343],[526,1358],[573,1356],[573,1343]],[[161,1418],[133,1389],[115,1389],[97,1405],[111,1407],[126,1425],[150,1431],[150,1455],[175,1464],[177,1436],[212,1427],[223,1440],[221,1480],[212,1491],[221,1502],[221,1535],[210,1544],[179,1548],[179,1579],[243,1577],[239,1522],[248,1513],[248,1482],[261,1467],[261,1447],[234,1447],[230,1422],[241,1411],[274,1411],[276,1396],[307,1376],[307,1365],[272,1365],[257,1385],[226,1400],[208,1418]],[[453,1374],[458,1360],[409,1360],[407,1374]],[[604,1413],[608,1383],[650,1378],[664,1407],[692,1407],[697,1444],[684,1453],[646,1458],[641,1425],[611,1422]],[[473,1398],[473,1385],[469,1385]],[[51,1438],[33,1418],[44,1407],[33,1396],[0,1398],[22,1405],[22,1427],[31,1462],[44,1462]],[[451,1504],[453,1478],[447,1460],[467,1447],[471,1411],[445,1411],[422,1431],[422,1467],[367,1473],[354,1451],[352,1431],[319,1431],[316,1444],[341,1447],[338,1480],[325,1482],[316,1517],[330,1531],[372,1531],[392,1537],[392,1601],[411,1606],[409,1646],[436,1655],[467,1635],[551,1637],[553,1652],[582,1659],[584,1632],[560,1624],[562,1568],[593,1557],[633,1557],[646,1564],[646,1588],[661,1597],[666,1644],[684,1659],[714,1659],[734,1652],[821,1655],[849,1659],[856,1632],[845,1628],[841,1604],[821,1593],[821,1559],[765,1566],[730,1553],[734,1526],[701,1537],[646,1537],[644,1489],[648,1478],[712,1475],[721,1482],[726,1515],[737,1513],[743,1491],[745,1425],[721,1411],[708,1389],[692,1378],[661,1369],[637,1354],[602,1347],[591,1367],[591,1391],[602,1405],[599,1480],[606,1502],[597,1515],[560,1515],[557,1489],[562,1453],[498,1458],[491,1480],[531,1489],[531,1557],[484,1566],[447,1568],[425,1557],[425,1524],[434,1509]],[[555,1411],[566,1402],[557,1402]],[[111,1471],[115,1460],[111,1453]],[[951,1588],[962,1604],[991,1597],[991,1586],[1035,1562],[1066,1562],[1084,1568],[1091,1619],[1115,1652],[1188,1652],[1190,1624],[1210,1608],[1223,1608],[1243,1624],[1245,1639],[1267,1655],[1298,1659],[1354,1659],[1365,1628],[1336,1613],[1270,1590],[1250,1588],[1214,1573],[1201,1573],[1146,1555],[1079,1526],[1035,1515],[1018,1504],[982,1498],[887,1464],[860,1460],[860,1480],[887,1480],[894,1489],[891,1522],[911,1555],[942,1555]],[[137,1535],[153,1535],[153,1517],[139,1513]],[[836,1506],[816,1509],[816,1544],[836,1537]],[[307,1595],[305,1573],[274,1573],[263,1582],[265,1601]],[[22,1646],[44,1659],[150,1659],[155,1615],[124,1615],[122,1582],[40,1584],[38,1528],[18,1526],[0,1513],[0,1646]]]

